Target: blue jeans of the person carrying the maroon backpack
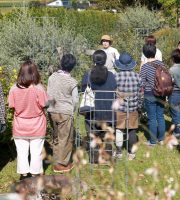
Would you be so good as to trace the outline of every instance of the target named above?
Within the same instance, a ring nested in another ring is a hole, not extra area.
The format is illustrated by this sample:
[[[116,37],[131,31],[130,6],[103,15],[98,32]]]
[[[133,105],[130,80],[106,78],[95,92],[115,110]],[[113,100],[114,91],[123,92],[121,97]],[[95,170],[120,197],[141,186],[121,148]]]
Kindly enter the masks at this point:
[[[165,119],[164,119],[164,98],[157,98],[153,95],[146,95],[145,109],[148,116],[148,128],[150,132],[150,143],[164,140]]]

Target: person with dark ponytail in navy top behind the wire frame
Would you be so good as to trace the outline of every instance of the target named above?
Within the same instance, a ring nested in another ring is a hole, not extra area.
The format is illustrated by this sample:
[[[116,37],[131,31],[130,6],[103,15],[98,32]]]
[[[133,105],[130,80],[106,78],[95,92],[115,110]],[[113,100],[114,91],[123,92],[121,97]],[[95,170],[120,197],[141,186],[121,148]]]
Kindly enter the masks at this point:
[[[101,127],[98,122],[106,122],[112,125],[115,122],[115,115],[112,113],[112,102],[115,99],[116,80],[112,72],[105,67],[107,55],[103,50],[97,50],[93,54],[94,66],[90,72],[85,73],[82,80],[82,91],[87,85],[95,92],[94,109],[85,115],[85,127],[87,140],[93,130],[100,136]],[[100,136],[101,137],[101,136]],[[88,147],[89,148],[89,147]]]

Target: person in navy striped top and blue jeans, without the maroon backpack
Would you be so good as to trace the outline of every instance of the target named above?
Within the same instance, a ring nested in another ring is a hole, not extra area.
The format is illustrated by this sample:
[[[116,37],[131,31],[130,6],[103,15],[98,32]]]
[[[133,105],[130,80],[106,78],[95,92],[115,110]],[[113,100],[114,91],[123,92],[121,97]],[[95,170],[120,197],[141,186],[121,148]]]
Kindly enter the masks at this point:
[[[143,54],[147,58],[147,63],[141,67],[140,76],[143,82],[144,103],[150,132],[150,140],[147,142],[147,145],[154,146],[157,142],[163,144],[165,136],[164,102],[166,97],[157,96],[154,93],[156,67],[161,69],[165,69],[165,67],[162,61],[155,58],[155,45],[145,44],[143,46]]]

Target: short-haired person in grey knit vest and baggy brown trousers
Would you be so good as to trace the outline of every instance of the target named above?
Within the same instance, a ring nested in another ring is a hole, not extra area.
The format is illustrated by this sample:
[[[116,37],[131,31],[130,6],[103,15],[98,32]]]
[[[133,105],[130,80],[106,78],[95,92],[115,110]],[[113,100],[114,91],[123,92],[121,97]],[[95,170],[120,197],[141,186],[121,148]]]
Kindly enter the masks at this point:
[[[59,70],[48,79],[47,92],[51,103],[48,112],[53,126],[54,172],[69,172],[73,168],[73,113],[78,103],[77,81],[70,72],[76,65],[72,54],[65,54]]]

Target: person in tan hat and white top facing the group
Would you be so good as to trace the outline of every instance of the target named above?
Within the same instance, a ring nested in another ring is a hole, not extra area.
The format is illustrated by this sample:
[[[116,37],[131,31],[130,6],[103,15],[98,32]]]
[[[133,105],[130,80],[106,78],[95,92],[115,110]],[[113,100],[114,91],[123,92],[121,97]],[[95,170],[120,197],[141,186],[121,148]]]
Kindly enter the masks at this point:
[[[113,74],[116,73],[116,70],[114,69],[115,66],[115,60],[119,58],[119,52],[117,49],[112,47],[112,38],[109,35],[103,35],[101,37],[101,45],[103,46],[102,50],[107,55],[107,60],[105,63],[105,66],[109,71],[111,71]]]

